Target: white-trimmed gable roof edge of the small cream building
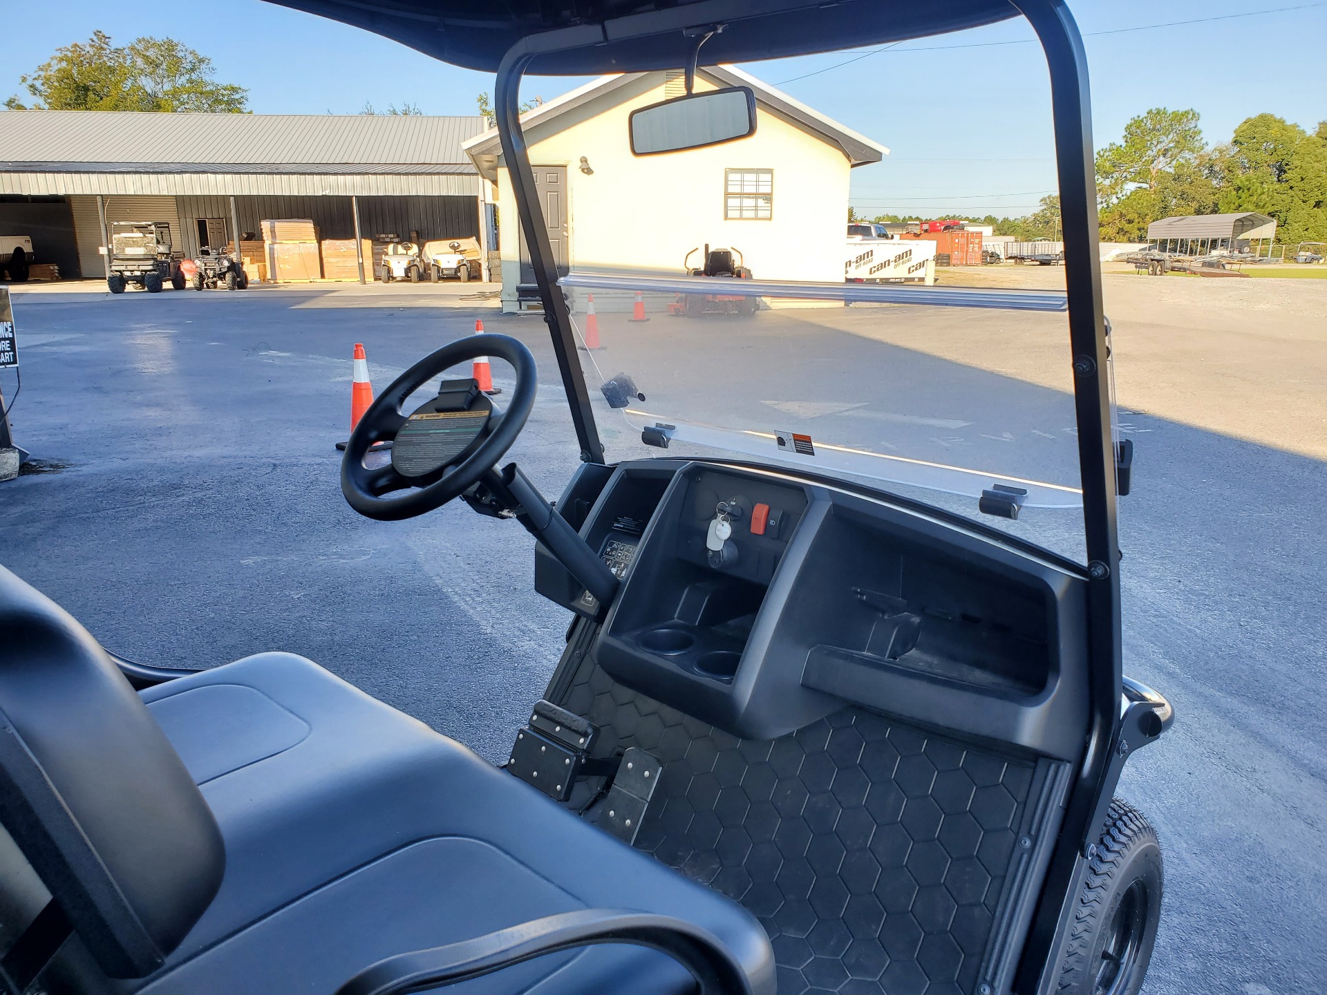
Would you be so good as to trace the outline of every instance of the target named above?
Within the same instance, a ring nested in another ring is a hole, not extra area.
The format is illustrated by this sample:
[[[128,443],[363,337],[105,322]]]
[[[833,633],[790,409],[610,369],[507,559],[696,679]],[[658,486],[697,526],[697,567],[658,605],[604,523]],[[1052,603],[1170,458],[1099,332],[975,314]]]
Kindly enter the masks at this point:
[[[654,72],[660,76],[664,74],[662,70]],[[697,69],[697,74],[709,78],[710,82],[719,86],[750,86],[752,92],[755,92],[756,106],[772,110],[780,117],[792,121],[803,131],[807,131],[829,145],[837,146],[848,158],[848,163],[851,166],[865,166],[872,162],[880,162],[885,155],[889,155],[889,149],[878,142],[873,142],[865,135],[825,117],[820,111],[812,110],[805,103],[802,103],[788,94],[774,89],[768,84],[762,82],[750,73],[742,72],[736,66],[703,66]],[[577,86],[575,90],[564,93],[561,97],[551,100],[547,103],[522,114],[522,127],[528,129],[533,125],[553,121],[560,114],[565,114],[567,111],[589,103],[591,101],[610,98],[616,90],[620,90],[626,84],[646,76],[649,76],[649,73],[618,73],[614,76],[601,76],[597,80],[591,80],[588,84]],[[491,171],[496,157],[502,153],[498,139],[498,129],[491,127],[482,135],[475,135],[467,142],[463,142],[462,147],[470,158],[475,161],[476,166],[479,166],[480,172],[487,174]]]

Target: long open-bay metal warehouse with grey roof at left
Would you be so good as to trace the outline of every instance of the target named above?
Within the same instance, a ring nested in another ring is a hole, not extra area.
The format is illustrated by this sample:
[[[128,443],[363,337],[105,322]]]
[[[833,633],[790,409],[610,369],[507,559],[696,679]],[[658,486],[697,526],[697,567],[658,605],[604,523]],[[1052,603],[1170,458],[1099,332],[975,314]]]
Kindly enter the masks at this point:
[[[269,218],[311,218],[321,239],[418,232],[487,249],[488,184],[462,150],[487,127],[482,117],[0,111],[0,233],[31,235],[36,261],[84,277],[106,275],[111,222],[169,222],[190,257]],[[370,260],[365,269],[372,279]]]

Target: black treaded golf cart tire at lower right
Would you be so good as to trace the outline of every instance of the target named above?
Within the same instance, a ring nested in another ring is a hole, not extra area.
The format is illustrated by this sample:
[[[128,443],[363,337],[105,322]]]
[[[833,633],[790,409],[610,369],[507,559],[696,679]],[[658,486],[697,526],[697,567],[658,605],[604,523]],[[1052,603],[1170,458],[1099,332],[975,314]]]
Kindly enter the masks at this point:
[[[1164,881],[1156,829],[1133,805],[1112,800],[1075,898],[1056,995],[1137,995],[1157,938]]]

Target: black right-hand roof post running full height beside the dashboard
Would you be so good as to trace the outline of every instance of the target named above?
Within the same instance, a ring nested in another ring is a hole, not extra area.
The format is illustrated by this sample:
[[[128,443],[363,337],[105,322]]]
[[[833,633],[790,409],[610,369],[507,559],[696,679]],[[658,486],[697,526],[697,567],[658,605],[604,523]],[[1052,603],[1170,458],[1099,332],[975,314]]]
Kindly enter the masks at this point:
[[[1055,158],[1064,228],[1070,361],[1083,474],[1083,525],[1088,560],[1089,719],[1083,758],[1068,796],[1059,841],[1023,949],[1015,990],[1054,988],[1055,939],[1062,915],[1078,897],[1082,861],[1091,853],[1115,784],[1111,754],[1120,730],[1124,673],[1120,654],[1119,536],[1115,440],[1111,425],[1109,356],[1097,260],[1096,168],[1083,37],[1064,0],[1011,0],[1031,23],[1051,74]]]

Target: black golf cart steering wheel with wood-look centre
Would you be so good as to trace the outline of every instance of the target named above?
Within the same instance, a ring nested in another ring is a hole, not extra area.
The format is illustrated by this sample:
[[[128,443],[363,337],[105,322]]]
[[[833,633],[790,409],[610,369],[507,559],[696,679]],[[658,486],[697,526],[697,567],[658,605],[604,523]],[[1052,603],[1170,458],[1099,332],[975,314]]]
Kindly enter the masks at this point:
[[[456,379],[443,381],[438,397],[411,414],[402,413],[415,390],[479,356],[506,360],[516,371],[504,411],[495,410],[474,381]],[[536,386],[535,357],[510,336],[466,336],[445,345],[397,377],[364,413],[341,459],[341,494],[357,512],[380,521],[413,519],[460,496],[498,464],[525,427]],[[366,467],[373,444],[387,440],[391,462]],[[407,492],[387,496],[395,491]]]

